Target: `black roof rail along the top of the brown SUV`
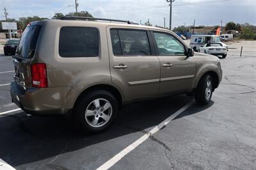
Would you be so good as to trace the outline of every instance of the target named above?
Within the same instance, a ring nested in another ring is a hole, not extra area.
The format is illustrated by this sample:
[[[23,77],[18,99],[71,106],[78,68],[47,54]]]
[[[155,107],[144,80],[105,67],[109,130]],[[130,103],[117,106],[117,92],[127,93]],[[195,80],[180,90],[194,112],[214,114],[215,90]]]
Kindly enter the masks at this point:
[[[108,21],[114,21],[114,22],[125,22],[127,24],[135,24],[140,25],[138,22],[133,22],[131,20],[117,20],[117,19],[101,19],[101,18],[93,18],[93,17],[77,17],[73,15],[66,15],[64,17],[61,17],[61,20],[108,20]]]

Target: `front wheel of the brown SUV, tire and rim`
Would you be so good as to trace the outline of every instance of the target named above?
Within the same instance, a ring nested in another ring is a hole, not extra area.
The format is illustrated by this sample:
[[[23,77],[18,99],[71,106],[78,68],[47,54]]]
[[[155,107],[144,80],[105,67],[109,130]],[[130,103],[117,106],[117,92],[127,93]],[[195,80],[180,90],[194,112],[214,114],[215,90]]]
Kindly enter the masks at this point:
[[[214,91],[213,79],[211,75],[205,74],[195,91],[195,100],[200,105],[207,105],[211,101],[212,92]]]

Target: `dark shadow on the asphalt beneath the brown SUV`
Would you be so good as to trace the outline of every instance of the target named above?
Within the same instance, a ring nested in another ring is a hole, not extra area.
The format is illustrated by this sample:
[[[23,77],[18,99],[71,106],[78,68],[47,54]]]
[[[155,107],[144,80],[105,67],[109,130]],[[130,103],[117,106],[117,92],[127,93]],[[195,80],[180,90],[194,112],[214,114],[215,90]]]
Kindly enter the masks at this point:
[[[83,134],[72,128],[63,116],[27,116],[24,112],[1,115],[0,158],[12,166],[20,166],[127,134],[145,133],[191,100],[193,98],[182,95],[125,105],[115,123],[97,135]],[[193,104],[189,112],[178,118],[200,112],[212,104],[205,107]]]

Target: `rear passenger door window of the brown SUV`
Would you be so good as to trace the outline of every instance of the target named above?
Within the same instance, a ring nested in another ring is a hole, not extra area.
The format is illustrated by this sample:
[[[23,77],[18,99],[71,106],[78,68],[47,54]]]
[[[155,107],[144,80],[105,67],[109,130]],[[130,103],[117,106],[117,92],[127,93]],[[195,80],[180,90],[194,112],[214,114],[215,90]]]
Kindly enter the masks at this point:
[[[110,34],[115,55],[147,56],[151,54],[147,31],[112,29]]]

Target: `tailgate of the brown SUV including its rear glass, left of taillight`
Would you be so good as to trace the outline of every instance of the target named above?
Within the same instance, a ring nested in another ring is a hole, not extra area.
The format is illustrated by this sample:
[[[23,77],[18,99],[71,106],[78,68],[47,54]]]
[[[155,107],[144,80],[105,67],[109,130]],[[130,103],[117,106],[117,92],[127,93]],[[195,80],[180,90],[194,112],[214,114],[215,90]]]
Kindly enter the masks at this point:
[[[14,79],[23,86],[31,86],[31,58],[35,55],[36,43],[42,26],[29,25],[20,38],[19,46],[13,57]]]

